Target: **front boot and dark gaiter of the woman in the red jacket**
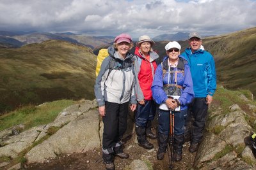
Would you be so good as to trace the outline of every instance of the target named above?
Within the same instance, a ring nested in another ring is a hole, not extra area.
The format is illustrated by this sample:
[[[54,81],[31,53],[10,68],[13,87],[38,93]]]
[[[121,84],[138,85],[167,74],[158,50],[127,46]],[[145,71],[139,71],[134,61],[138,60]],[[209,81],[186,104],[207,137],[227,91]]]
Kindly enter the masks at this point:
[[[154,148],[154,146],[152,145],[152,143],[149,143],[147,138],[146,138],[146,128],[145,127],[140,127],[140,126],[135,126],[135,131],[137,134],[137,139],[138,139],[138,145],[147,149],[147,150],[151,150],[152,148]]]

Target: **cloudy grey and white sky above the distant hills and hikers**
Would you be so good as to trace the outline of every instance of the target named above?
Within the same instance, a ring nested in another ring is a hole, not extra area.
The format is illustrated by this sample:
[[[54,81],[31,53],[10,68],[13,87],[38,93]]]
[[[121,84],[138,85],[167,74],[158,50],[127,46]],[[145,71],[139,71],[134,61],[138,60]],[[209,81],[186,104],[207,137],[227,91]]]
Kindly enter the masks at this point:
[[[218,35],[255,27],[255,9],[256,0],[0,0],[0,30]]]

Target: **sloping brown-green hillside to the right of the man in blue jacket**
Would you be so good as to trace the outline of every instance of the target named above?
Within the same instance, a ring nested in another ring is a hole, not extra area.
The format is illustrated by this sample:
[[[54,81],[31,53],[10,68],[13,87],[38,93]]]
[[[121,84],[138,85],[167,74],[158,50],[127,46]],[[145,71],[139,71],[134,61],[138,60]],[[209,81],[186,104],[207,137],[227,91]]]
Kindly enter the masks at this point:
[[[256,94],[256,27],[205,38],[214,55],[218,82],[229,89],[249,89]]]

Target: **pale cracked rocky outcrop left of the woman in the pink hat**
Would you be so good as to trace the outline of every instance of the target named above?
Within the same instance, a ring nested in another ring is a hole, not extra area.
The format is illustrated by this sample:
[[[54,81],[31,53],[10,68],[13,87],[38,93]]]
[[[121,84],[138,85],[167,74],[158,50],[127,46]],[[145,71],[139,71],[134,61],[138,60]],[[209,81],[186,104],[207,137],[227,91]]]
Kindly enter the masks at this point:
[[[99,113],[96,107],[95,100],[83,101],[61,111],[50,124],[33,127],[19,134],[13,134],[13,129],[20,129],[22,125],[1,131],[0,157],[17,157],[35,141],[46,136],[50,127],[58,127],[60,130],[26,154],[29,163],[44,162],[45,159],[62,153],[86,152],[100,148]]]

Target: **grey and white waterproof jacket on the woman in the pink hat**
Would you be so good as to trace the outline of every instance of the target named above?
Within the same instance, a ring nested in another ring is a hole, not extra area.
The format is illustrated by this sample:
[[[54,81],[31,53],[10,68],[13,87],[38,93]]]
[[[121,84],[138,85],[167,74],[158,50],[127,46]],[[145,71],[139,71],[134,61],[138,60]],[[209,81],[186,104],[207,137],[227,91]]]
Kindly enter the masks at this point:
[[[113,46],[109,46],[108,53],[109,56],[103,60],[94,85],[98,106],[104,106],[105,101],[118,104],[130,101],[131,104],[136,104],[133,55],[127,53],[124,59]],[[111,58],[115,59],[114,67],[119,69],[109,69]]]

